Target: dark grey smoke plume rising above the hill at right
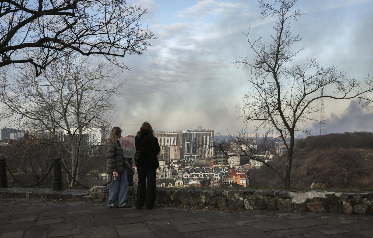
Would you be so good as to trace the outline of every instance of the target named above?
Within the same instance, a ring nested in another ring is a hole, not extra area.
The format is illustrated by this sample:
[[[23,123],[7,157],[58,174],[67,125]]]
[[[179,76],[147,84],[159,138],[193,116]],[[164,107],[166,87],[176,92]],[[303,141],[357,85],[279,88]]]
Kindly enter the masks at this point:
[[[343,133],[346,131],[369,131],[373,132],[373,110],[371,107],[363,108],[358,100],[351,100],[350,105],[341,115],[332,113],[326,118],[327,134]],[[320,134],[320,123],[313,123],[314,135]]]

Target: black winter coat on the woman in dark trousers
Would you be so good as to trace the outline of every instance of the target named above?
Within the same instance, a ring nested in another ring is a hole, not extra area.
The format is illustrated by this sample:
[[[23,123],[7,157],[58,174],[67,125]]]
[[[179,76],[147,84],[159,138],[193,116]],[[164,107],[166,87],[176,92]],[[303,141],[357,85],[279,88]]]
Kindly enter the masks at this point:
[[[140,150],[140,159],[136,162],[137,169],[153,170],[159,167],[159,143],[150,131],[142,131],[140,138],[135,137],[135,147],[136,151]]]

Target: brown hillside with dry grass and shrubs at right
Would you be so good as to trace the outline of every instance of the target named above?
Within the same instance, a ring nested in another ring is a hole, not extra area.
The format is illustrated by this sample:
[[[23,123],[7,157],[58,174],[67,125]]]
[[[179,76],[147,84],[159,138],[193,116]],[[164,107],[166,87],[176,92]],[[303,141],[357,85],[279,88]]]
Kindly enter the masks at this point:
[[[348,143],[346,138],[351,137],[356,140]],[[370,132],[354,132],[298,141],[292,163],[292,187],[373,189],[373,140],[369,138],[373,139]],[[284,174],[286,155],[276,158],[272,165]],[[283,182],[275,172],[262,166],[251,170],[250,185],[280,188]]]

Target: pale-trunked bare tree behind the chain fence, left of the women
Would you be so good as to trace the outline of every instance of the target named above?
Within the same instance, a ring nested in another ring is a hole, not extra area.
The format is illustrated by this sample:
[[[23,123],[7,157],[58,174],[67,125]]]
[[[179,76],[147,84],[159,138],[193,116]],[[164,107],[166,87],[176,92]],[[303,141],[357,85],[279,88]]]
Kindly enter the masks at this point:
[[[62,158],[63,151],[68,151],[68,165],[78,179],[82,154],[101,142],[98,135],[94,145],[84,148],[82,139],[94,129],[109,127],[114,98],[121,94],[124,82],[103,62],[90,67],[87,57],[77,54],[55,60],[39,77],[32,73],[32,66],[15,75],[5,67],[0,70],[4,76],[0,101],[5,105],[0,118],[39,133],[35,139],[46,137],[40,131],[47,131]]]

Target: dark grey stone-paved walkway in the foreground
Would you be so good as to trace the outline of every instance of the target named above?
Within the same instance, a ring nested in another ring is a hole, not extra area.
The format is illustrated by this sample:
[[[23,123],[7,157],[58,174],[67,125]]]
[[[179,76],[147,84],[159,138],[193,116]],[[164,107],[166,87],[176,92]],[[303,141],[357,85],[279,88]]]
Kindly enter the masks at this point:
[[[156,207],[0,197],[0,238],[373,238],[373,216]]]

